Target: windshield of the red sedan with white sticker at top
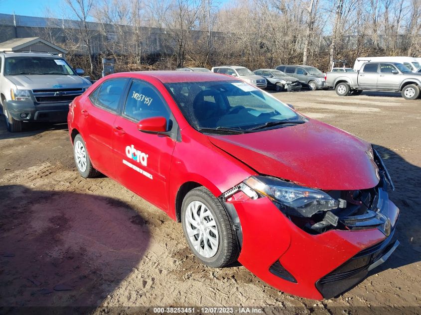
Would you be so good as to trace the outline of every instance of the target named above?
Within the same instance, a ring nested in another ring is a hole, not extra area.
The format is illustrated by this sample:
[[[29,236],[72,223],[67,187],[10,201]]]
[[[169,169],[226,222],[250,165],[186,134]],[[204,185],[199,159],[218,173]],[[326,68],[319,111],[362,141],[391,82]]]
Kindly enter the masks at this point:
[[[167,83],[184,117],[196,129],[248,130],[301,117],[270,94],[240,81]]]

